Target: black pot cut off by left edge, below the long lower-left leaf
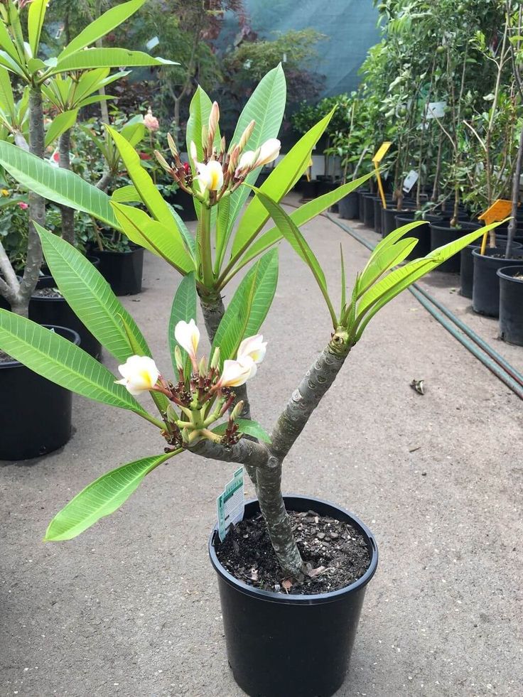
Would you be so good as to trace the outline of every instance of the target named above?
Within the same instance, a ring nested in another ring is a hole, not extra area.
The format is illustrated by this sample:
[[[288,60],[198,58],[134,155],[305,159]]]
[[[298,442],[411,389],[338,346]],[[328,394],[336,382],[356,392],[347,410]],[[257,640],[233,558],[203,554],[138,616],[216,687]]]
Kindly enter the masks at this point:
[[[80,343],[72,329],[53,329]],[[0,363],[0,460],[28,460],[61,448],[71,437],[71,410],[69,390],[18,361]]]

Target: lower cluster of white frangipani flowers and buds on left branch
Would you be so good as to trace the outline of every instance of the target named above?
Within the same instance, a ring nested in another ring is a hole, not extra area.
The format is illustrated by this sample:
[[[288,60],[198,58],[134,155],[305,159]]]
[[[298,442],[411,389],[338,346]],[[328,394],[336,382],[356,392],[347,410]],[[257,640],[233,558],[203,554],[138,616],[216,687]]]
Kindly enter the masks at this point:
[[[210,363],[205,357],[198,361],[200,330],[194,320],[178,322],[174,336],[177,342],[174,358],[178,382],[167,382],[148,356],[129,357],[118,367],[122,379],[116,382],[134,395],[155,391],[167,396],[168,409],[162,414],[166,425],[162,435],[170,446],[166,450],[193,445],[203,438],[222,445],[234,445],[241,437],[235,421],[242,413],[242,401],[232,409],[223,435],[210,431],[209,426],[225,416],[234,405],[234,387],[244,384],[257,373],[266,351],[263,336],[257,334],[244,339],[239,345],[236,360],[225,360],[221,370],[219,347],[213,352]],[[182,350],[191,364],[188,376]]]

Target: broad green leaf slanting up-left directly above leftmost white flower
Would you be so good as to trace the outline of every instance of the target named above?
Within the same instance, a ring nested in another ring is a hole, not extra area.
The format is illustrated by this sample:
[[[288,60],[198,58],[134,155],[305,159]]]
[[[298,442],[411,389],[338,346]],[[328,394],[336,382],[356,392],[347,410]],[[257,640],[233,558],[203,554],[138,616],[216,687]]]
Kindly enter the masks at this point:
[[[90,333],[119,361],[134,354],[150,357],[144,336],[102,274],[65,239],[35,225],[53,279]],[[124,318],[136,345],[129,342],[118,315]]]

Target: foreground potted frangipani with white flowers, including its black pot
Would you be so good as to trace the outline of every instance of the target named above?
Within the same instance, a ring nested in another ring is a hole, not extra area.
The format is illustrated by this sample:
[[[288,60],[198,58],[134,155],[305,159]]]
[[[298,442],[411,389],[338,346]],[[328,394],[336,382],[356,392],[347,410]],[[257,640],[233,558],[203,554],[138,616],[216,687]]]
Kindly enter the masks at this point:
[[[299,225],[370,175],[290,214],[281,207],[281,199],[308,167],[331,112],[256,188],[259,169],[279,153],[276,137],[284,104],[284,73],[277,67],[252,94],[227,148],[217,104],[203,90],[196,92],[188,121],[190,162],[182,161],[173,139],[169,139],[172,163],[158,153],[163,167],[193,197],[198,214],[195,237],[158,194],[134,148],[114,129],[108,132],[132,185],[117,190],[112,198],[71,172],[53,170],[55,175],[49,178],[47,163],[0,144],[1,165],[21,183],[122,229],[183,275],[167,328],[173,362],[169,372],[154,362],[144,335],[97,269],[68,242],[38,226],[45,259],[60,291],[119,359],[121,378],[115,379],[79,347],[3,310],[0,348],[78,394],[133,411],[157,429],[158,450],[163,450],[92,482],[50,522],[48,541],[72,539],[111,514],[146,475],[183,453],[244,466],[257,499],[246,505],[243,521],[227,534],[220,536],[216,526],[209,546],[220,584],[230,665],[250,695],[312,697],[331,695],[343,682],[365,588],[377,568],[377,546],[367,527],[335,504],[306,496],[284,497],[284,460],[374,314],[487,228],[398,266],[417,242],[405,237],[419,225],[411,222],[377,245],[348,292],[342,255],[342,300],[336,310],[325,274]],[[247,203],[251,191],[255,195]],[[146,211],[124,200],[140,202]],[[269,219],[274,227],[265,229]],[[281,239],[311,269],[332,332],[269,434],[251,418],[246,384],[256,377],[270,350],[260,329],[276,291],[275,245]],[[245,266],[249,270],[225,308],[223,288]],[[209,360],[198,353],[198,298],[211,342]],[[136,401],[143,393],[151,395],[157,415]],[[253,560],[252,565],[242,565],[249,568],[248,577],[238,566],[239,554]]]

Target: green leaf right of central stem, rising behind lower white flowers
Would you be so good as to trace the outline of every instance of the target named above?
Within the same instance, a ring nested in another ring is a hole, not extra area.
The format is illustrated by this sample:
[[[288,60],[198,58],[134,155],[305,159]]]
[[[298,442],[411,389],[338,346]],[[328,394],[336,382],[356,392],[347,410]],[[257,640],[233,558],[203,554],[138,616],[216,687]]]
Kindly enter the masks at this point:
[[[220,347],[220,365],[224,360],[236,357],[244,337],[259,332],[271,307],[277,284],[278,251],[271,249],[249,269],[220,321],[212,342],[212,352],[217,346]]]

